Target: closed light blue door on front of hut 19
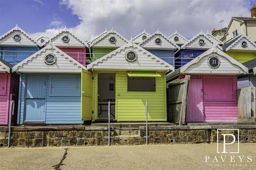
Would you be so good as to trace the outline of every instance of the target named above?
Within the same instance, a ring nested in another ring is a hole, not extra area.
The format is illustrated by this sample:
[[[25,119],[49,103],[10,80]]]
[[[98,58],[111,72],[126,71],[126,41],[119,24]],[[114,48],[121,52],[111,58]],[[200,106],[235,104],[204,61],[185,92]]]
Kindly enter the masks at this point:
[[[28,75],[25,122],[45,122],[46,76]]]

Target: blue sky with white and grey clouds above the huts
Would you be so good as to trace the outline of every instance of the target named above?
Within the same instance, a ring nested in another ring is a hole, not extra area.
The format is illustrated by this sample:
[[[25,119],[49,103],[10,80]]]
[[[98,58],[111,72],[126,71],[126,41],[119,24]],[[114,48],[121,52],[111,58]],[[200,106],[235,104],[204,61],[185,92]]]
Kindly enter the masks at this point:
[[[82,40],[114,27],[127,39],[143,29],[191,38],[227,26],[232,16],[250,16],[256,0],[0,0],[0,35],[18,24],[34,38],[65,26]]]

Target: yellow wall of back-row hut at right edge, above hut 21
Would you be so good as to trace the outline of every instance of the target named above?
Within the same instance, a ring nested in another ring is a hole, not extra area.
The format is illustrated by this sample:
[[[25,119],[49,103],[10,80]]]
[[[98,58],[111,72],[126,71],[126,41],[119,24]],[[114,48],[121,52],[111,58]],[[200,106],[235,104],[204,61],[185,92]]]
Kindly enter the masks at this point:
[[[256,58],[254,52],[226,52],[226,54],[233,57],[235,60],[238,60],[239,63],[244,63]]]

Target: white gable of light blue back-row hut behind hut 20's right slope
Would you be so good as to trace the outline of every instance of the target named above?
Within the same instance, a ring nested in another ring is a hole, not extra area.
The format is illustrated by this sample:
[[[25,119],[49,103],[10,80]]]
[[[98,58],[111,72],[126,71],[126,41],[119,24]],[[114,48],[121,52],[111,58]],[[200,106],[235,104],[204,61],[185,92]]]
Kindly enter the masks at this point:
[[[148,45],[148,43],[150,41],[155,41],[153,38],[155,38],[156,36],[161,36],[162,38],[164,38],[167,43],[169,43],[168,45],[166,46],[163,46],[162,44],[159,46],[157,44],[153,44],[153,45]],[[151,36],[149,36],[148,38],[146,38],[145,40],[143,40],[141,43],[138,44],[139,46],[143,47],[143,48],[146,48],[146,49],[150,49],[150,48],[153,48],[153,49],[180,49],[180,47],[175,44],[172,40],[170,40],[168,37],[166,37],[162,32],[160,32],[159,30],[157,30],[156,32],[154,32]],[[169,47],[167,47],[169,46]]]

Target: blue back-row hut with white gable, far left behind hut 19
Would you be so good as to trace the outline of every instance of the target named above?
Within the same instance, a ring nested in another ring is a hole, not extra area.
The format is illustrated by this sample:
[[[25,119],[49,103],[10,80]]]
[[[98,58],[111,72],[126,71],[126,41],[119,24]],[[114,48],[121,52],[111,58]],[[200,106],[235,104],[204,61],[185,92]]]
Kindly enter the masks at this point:
[[[0,54],[3,60],[15,65],[39,50],[36,41],[18,25],[0,37]]]

